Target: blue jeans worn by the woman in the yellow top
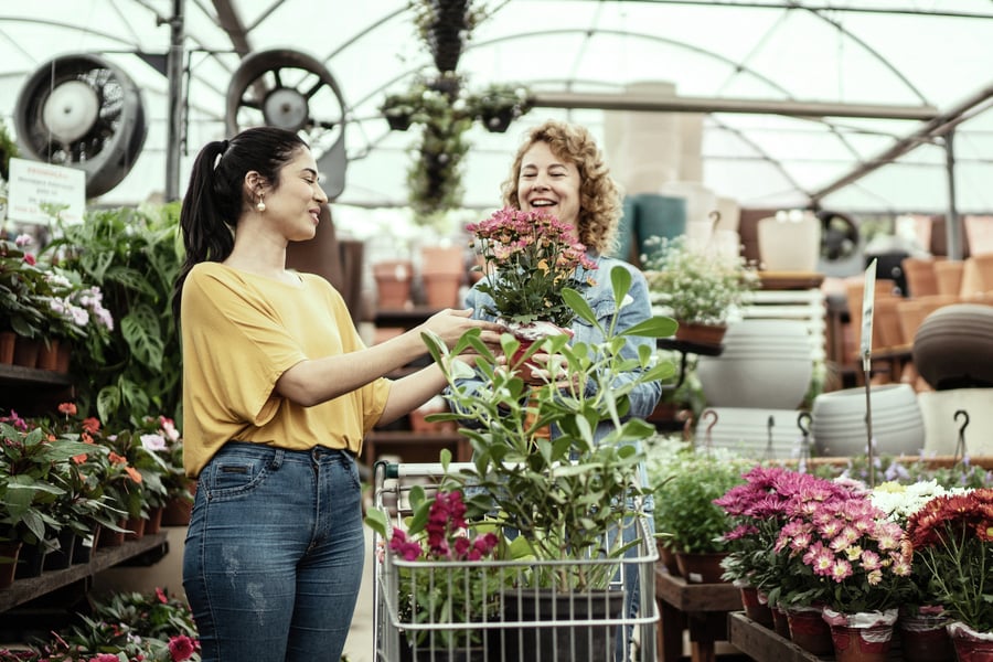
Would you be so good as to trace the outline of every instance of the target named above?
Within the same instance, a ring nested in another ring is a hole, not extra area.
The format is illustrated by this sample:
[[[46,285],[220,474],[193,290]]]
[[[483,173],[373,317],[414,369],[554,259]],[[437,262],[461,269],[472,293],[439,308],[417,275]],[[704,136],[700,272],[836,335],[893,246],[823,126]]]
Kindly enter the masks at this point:
[[[200,476],[183,555],[203,662],[339,662],[362,526],[349,453],[225,445]]]

